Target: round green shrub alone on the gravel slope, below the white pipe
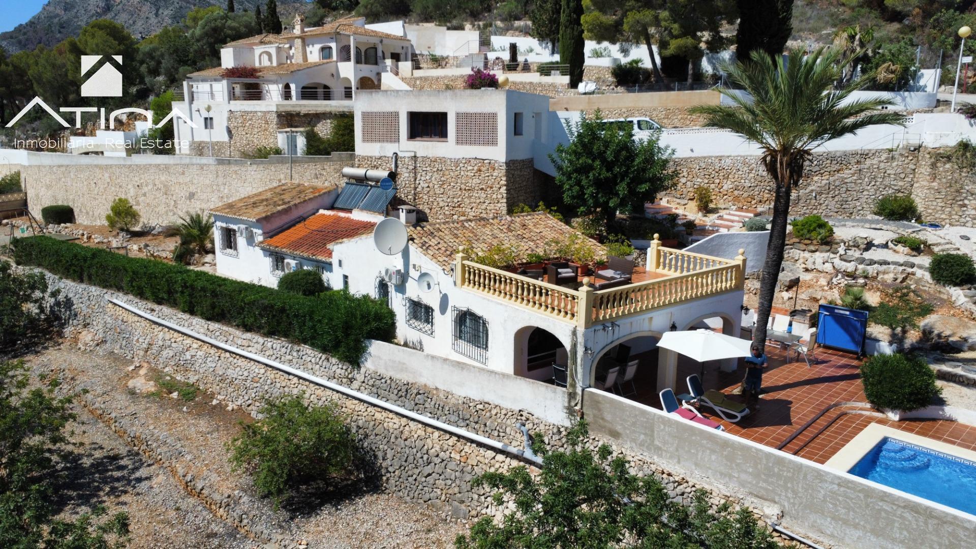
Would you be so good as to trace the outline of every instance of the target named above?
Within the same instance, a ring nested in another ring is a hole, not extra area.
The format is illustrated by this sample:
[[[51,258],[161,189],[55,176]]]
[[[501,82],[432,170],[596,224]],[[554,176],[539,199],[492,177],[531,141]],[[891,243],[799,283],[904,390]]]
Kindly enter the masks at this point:
[[[334,403],[308,407],[300,398],[268,402],[264,419],[245,424],[229,444],[235,471],[248,471],[275,507],[308,484],[348,479],[356,441]]]

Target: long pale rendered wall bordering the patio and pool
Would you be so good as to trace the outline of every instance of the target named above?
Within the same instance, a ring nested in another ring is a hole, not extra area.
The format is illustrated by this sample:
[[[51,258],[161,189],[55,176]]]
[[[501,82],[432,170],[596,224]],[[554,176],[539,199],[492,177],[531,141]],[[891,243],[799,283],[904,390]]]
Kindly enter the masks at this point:
[[[594,435],[771,503],[785,528],[840,547],[957,549],[976,536],[976,517],[962,511],[616,395],[587,389],[583,409]]]

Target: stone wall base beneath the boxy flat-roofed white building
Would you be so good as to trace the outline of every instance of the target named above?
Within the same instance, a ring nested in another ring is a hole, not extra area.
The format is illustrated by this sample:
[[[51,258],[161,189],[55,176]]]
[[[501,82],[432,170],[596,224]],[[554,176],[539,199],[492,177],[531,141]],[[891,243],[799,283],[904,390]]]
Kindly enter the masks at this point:
[[[388,170],[389,158],[358,155],[356,166]],[[420,208],[430,221],[505,215],[516,204],[535,204],[542,198],[531,158],[501,162],[401,156],[397,169],[400,203]]]

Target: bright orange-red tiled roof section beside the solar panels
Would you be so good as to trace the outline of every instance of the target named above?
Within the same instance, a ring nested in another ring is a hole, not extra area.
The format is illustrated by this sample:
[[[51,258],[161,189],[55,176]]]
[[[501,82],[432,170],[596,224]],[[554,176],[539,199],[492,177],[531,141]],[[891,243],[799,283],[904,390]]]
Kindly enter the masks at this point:
[[[295,227],[259,242],[258,247],[331,262],[333,245],[369,234],[375,227],[376,223],[371,221],[360,221],[338,213],[315,214]]]

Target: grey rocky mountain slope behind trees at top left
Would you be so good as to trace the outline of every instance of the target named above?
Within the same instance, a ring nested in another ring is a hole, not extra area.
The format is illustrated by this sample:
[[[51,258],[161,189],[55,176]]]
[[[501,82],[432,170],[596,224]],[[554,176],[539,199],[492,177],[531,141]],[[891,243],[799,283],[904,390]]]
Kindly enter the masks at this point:
[[[16,1],[16,0],[13,0]],[[237,11],[253,11],[264,0],[235,0]],[[305,2],[278,2],[282,19]],[[193,8],[226,6],[226,0],[48,0],[41,11],[13,30],[0,33],[0,46],[8,52],[32,50],[39,44],[54,46],[77,36],[83,26],[97,19],[125,25],[137,39],[183,21]]]

